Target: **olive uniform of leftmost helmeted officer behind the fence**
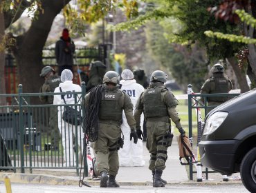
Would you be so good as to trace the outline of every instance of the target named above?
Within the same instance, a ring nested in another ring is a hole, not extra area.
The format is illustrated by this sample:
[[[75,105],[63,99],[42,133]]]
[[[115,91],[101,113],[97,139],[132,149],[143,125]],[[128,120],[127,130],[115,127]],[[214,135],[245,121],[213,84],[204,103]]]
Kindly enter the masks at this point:
[[[42,87],[40,92],[54,92],[55,88],[60,84],[60,77],[53,75],[48,77]],[[46,104],[53,104],[53,96],[39,96],[40,101]],[[57,107],[50,108],[49,126],[51,130],[51,147],[57,149],[60,141],[60,132],[58,129],[57,121]]]

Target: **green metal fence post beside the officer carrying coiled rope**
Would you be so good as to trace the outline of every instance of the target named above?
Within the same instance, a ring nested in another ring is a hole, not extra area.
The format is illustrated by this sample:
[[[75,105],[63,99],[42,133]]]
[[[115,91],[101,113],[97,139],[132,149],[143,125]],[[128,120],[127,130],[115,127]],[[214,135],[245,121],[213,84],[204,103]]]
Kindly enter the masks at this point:
[[[85,132],[84,131],[84,116],[85,116],[85,114],[86,114],[86,112],[85,112],[85,108],[84,108],[84,105],[83,105],[83,103],[84,103],[84,96],[85,96],[85,94],[86,94],[86,85],[85,85],[85,83],[84,83],[84,81],[81,83],[81,87],[82,87],[82,129],[83,129],[83,132]],[[86,137],[85,137],[85,134],[84,134],[84,136],[83,136],[83,143],[85,143],[85,144],[83,144],[83,159],[84,159],[84,176],[88,176],[88,163],[87,163],[87,141],[86,141]]]

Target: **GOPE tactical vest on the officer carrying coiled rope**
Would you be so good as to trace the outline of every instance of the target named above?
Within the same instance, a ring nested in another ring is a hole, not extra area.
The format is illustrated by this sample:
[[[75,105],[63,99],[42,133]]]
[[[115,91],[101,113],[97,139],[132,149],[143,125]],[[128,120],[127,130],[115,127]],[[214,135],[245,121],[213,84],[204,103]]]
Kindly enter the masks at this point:
[[[105,90],[102,94],[102,100],[100,103],[99,119],[122,121],[122,106],[119,102],[122,94],[121,90]]]

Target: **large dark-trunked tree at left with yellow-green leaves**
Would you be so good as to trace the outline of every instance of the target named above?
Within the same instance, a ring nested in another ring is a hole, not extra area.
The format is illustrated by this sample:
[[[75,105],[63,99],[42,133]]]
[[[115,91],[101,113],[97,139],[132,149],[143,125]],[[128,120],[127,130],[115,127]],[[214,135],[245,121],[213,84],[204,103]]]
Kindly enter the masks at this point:
[[[1,1],[0,10],[4,10],[5,27],[8,28],[17,21],[21,14],[28,8],[35,12],[30,28],[24,34],[16,37],[17,47],[15,59],[19,72],[19,83],[24,85],[24,92],[38,92],[42,84],[39,72],[42,69],[42,49],[44,48],[48,33],[51,30],[53,19],[64,9],[66,21],[71,30],[83,32],[84,22],[91,23],[103,18],[107,12],[116,6],[129,8],[127,15],[134,14],[131,8],[136,9],[134,1],[123,1],[121,5],[117,0],[112,1],[75,1],[71,6],[71,0],[6,0]],[[73,8],[75,6],[75,8]],[[3,74],[0,74],[1,77]]]

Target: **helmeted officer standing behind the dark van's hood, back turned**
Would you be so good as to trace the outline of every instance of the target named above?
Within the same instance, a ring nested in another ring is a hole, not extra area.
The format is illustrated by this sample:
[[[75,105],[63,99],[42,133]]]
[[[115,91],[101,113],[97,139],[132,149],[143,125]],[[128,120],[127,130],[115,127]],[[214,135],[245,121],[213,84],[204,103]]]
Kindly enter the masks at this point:
[[[228,93],[232,88],[232,82],[224,76],[224,68],[220,63],[216,63],[211,69],[212,77],[207,79],[201,88],[201,94]],[[202,99],[203,101],[203,99]],[[228,101],[228,96],[208,97],[208,106],[217,106]],[[212,108],[206,109],[209,112]]]

